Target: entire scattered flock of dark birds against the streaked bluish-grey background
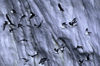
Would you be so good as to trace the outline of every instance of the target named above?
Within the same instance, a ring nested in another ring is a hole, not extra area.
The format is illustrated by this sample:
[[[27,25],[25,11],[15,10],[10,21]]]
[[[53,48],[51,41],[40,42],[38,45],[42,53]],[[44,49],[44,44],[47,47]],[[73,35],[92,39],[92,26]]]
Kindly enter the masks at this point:
[[[59,9],[60,9],[60,11],[62,11],[62,12],[64,12],[64,9],[62,8],[62,6],[61,6],[61,4],[60,3],[58,3],[58,7],[59,7]],[[17,13],[14,9],[12,9],[11,10],[11,13]],[[34,16],[36,16],[33,12],[30,12],[30,17],[29,17],[29,19],[32,19]],[[21,16],[21,18],[20,18],[20,20],[22,20],[23,18],[25,18],[26,17],[26,15],[22,15]],[[10,29],[9,29],[9,32],[12,32],[13,30],[16,30],[15,28],[12,28],[12,26],[13,27],[16,27],[16,25],[11,21],[11,19],[9,18],[9,15],[8,14],[6,14],[6,19],[7,19],[7,21],[5,21],[4,22],[4,24],[3,24],[3,30],[5,30],[5,28],[6,28],[6,26],[7,25],[9,25],[9,27],[10,27]],[[41,25],[42,25],[42,23],[43,23],[43,21],[39,24],[39,25],[37,25],[37,24],[34,24],[34,26],[36,26],[37,28],[39,28],[39,27],[41,27]],[[62,26],[64,26],[65,28],[67,28],[67,25],[68,24],[66,24],[66,22],[64,22],[64,23],[62,23]],[[71,22],[69,22],[69,25],[70,26],[77,26],[77,20],[76,20],[76,18],[74,18]],[[28,27],[33,27],[33,26],[31,26],[31,25],[27,25]],[[22,24],[18,24],[17,25],[17,28],[20,28],[20,27],[25,27],[25,26],[23,26]],[[86,28],[86,33],[89,35],[91,32],[89,32],[89,30],[88,30],[88,28]],[[20,41],[25,41],[25,42],[27,42],[28,40],[27,39],[22,39],[22,40],[20,40]],[[59,50],[61,50],[61,52],[64,52],[64,48],[65,48],[65,46],[61,46],[61,47],[59,47],[59,48],[54,48],[54,51],[56,52],[56,53],[58,53],[59,52]],[[82,46],[77,46],[75,49],[78,49],[78,48],[82,48],[83,49],[83,47]],[[38,55],[38,53],[37,54],[35,54],[35,55],[29,55],[29,56],[31,56],[31,57],[35,57],[35,56],[37,56]],[[25,60],[25,62],[28,62],[29,60],[28,59],[26,59],[26,58],[22,58],[23,60]],[[45,63],[45,61],[48,61],[49,59],[48,58],[41,58],[40,59],[40,61],[39,61],[39,64],[44,64]],[[90,60],[90,58],[89,58],[89,55],[87,55],[87,60]],[[79,60],[79,63],[80,64],[82,64],[83,63],[83,61],[84,60]]]

